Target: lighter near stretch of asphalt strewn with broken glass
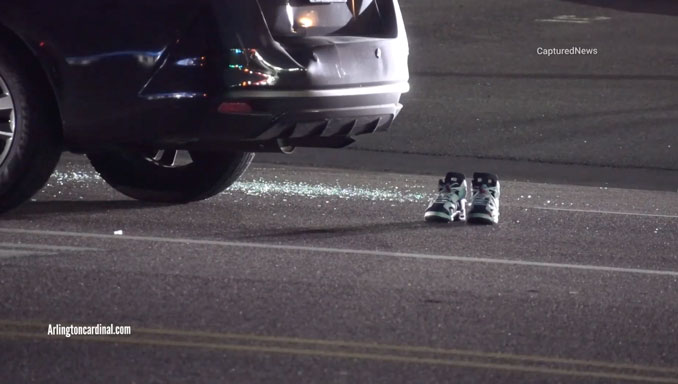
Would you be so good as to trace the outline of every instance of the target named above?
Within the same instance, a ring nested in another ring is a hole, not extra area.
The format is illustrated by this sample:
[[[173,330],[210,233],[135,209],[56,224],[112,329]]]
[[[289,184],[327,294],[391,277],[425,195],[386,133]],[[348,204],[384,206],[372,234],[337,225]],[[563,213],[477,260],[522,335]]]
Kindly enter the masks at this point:
[[[435,183],[259,163],[149,206],[67,156],[0,223],[0,381],[678,383],[675,192],[505,181],[500,225],[429,225]]]

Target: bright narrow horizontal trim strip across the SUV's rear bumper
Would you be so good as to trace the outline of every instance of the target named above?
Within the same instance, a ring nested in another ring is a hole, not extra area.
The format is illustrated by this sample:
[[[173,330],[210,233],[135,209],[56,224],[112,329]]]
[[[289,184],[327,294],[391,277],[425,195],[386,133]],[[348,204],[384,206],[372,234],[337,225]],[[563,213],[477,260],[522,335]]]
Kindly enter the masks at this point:
[[[408,82],[377,85],[371,87],[352,87],[337,89],[303,89],[303,90],[238,90],[228,93],[229,99],[281,99],[304,97],[342,97],[378,95],[382,93],[407,93]]]

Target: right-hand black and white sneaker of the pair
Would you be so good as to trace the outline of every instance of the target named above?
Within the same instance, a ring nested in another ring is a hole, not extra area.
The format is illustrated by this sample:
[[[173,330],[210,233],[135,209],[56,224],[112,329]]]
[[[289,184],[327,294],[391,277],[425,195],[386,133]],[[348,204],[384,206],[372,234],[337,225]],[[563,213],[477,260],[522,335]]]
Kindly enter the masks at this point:
[[[473,174],[473,200],[468,215],[469,223],[499,223],[499,180],[491,173]]]

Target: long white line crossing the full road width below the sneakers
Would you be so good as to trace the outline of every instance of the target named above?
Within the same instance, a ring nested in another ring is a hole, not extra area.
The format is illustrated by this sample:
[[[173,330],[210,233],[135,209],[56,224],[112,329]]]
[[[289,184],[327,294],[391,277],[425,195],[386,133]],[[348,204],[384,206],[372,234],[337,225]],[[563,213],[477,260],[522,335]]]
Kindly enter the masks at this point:
[[[312,252],[312,253],[334,253],[334,254],[359,255],[359,256],[382,256],[382,257],[396,257],[396,258],[406,258],[406,259],[444,260],[444,261],[455,261],[455,262],[463,262],[463,263],[500,264],[500,265],[514,265],[514,266],[517,265],[517,266],[526,266],[526,267],[543,267],[543,268],[554,268],[554,269],[571,269],[571,270],[597,271],[597,272],[628,273],[628,274],[638,274],[638,275],[669,276],[669,277],[673,277],[673,278],[678,278],[678,271],[641,269],[641,268],[620,268],[620,267],[607,267],[607,266],[601,266],[601,265],[586,265],[586,264],[547,263],[547,262],[526,261],[526,260],[490,259],[490,258],[483,258],[483,257],[429,255],[429,254],[423,254],[423,253],[370,251],[370,250],[359,250],[359,249],[309,247],[309,246],[300,246],[300,245],[278,245],[278,244],[265,244],[265,243],[243,243],[243,242],[235,242],[235,241],[196,240],[196,239],[165,238],[165,237],[154,237],[154,236],[115,236],[115,235],[106,235],[106,234],[98,234],[98,233],[42,231],[42,230],[11,229],[11,228],[0,228],[0,233],[59,236],[59,237],[80,237],[80,238],[107,239],[107,240],[115,239],[115,240],[132,240],[132,241],[149,241],[149,242],[172,243],[172,244],[215,245],[215,246],[222,246],[222,247],[271,249],[271,250],[279,250],[279,251],[302,251],[302,252]]]

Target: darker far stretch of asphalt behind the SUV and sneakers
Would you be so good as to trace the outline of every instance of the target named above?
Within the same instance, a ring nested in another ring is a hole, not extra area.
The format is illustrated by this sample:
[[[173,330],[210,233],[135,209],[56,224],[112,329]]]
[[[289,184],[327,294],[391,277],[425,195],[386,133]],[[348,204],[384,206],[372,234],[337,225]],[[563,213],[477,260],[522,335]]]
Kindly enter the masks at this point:
[[[678,2],[402,0],[397,153],[678,169]],[[539,55],[539,48],[597,49]]]

